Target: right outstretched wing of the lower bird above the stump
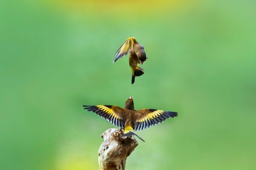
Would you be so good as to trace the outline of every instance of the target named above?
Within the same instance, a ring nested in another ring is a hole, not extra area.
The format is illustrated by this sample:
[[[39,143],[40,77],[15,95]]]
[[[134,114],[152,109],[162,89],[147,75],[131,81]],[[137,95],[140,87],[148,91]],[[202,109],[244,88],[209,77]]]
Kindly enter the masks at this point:
[[[141,109],[135,114],[134,130],[143,130],[145,128],[157,125],[170,117],[176,117],[177,112],[161,111],[156,109]]]

